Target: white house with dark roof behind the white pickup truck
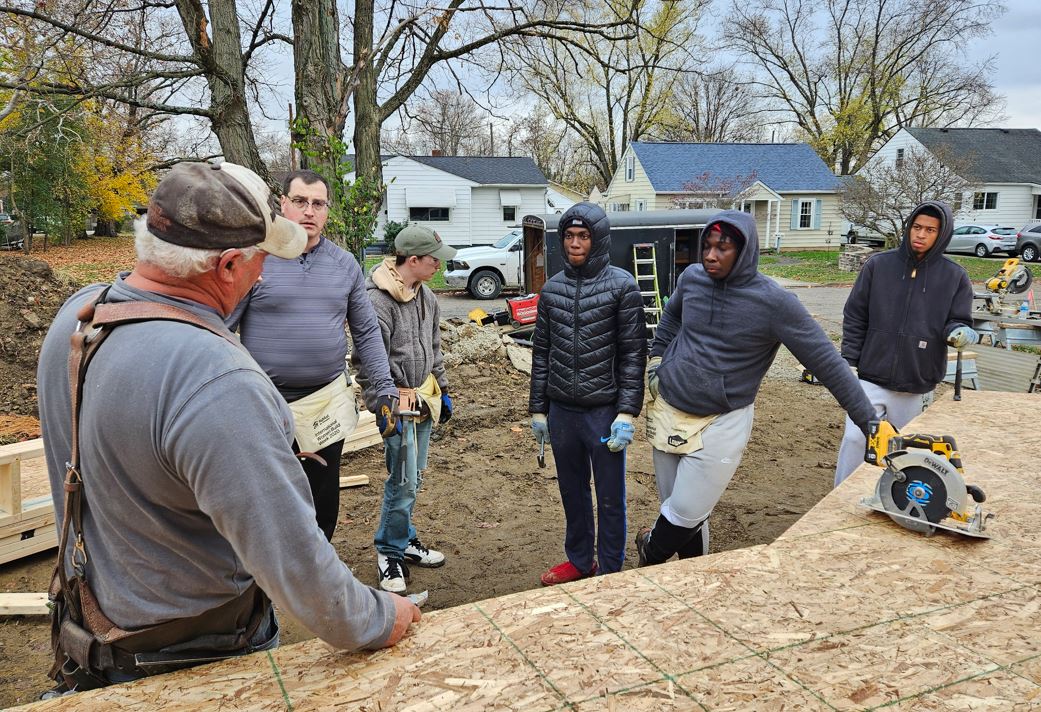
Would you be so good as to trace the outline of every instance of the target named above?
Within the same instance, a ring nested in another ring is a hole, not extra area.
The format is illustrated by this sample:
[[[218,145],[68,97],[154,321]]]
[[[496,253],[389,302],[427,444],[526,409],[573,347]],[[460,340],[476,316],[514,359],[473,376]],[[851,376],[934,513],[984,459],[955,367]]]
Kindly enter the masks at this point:
[[[549,181],[531,158],[384,155],[382,161],[386,194],[377,240],[392,220],[426,225],[448,245],[490,245],[526,214],[547,211]]]

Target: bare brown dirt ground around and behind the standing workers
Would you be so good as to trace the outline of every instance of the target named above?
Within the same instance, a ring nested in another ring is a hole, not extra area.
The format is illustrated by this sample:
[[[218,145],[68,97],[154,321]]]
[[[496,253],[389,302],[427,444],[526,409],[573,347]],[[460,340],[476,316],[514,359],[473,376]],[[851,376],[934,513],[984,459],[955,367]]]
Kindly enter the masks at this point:
[[[28,363],[23,352],[39,349],[42,331],[27,330],[21,309],[10,305],[6,261],[0,260],[0,415],[31,414],[34,361]],[[43,272],[36,278],[49,289],[62,290]],[[35,307],[34,315],[46,328],[53,310]],[[798,374],[794,359],[782,350],[756,401],[756,425],[744,459],[712,517],[713,552],[773,540],[831,488],[842,413],[827,390],[799,383]],[[422,538],[448,557],[442,568],[412,569],[410,590],[430,591],[426,610],[537,587],[539,575],[563,559],[563,511],[549,449],[547,468],[536,464],[527,415],[528,377],[504,358],[493,358],[456,365],[449,378],[456,415],[435,431],[415,508]],[[635,565],[636,529],[652,524],[658,508],[642,428],[640,423],[629,455],[627,567]],[[375,584],[372,538],[385,475],[381,449],[345,456],[342,474],[367,475],[371,484],[341,490],[333,543],[361,581]],[[41,554],[0,566],[0,591],[46,590],[52,557]],[[286,618],[283,643],[311,637]],[[48,687],[49,647],[46,619],[0,616],[0,707],[30,702]]]

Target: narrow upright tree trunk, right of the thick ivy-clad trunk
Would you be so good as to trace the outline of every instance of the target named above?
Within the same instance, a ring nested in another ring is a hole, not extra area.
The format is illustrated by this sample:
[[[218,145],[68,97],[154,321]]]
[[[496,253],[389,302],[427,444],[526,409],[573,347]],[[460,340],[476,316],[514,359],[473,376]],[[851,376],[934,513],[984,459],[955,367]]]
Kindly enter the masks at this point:
[[[354,63],[360,66],[354,90],[355,171],[359,178],[383,182],[380,163],[380,117],[376,96],[376,68],[373,53],[373,0],[357,0],[354,5]]]

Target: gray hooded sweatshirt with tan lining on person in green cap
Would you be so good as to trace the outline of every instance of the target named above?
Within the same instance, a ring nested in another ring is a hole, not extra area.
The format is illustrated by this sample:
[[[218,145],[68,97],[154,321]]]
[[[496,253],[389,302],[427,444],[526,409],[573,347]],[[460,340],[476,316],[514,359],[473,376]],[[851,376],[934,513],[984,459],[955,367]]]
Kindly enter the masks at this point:
[[[365,280],[365,288],[376,309],[395,385],[418,388],[433,374],[441,391],[448,392],[449,381],[441,356],[440,309],[434,293],[426,284],[418,284],[415,289],[406,286],[395,269],[393,257],[376,265]],[[351,361],[358,368],[358,383],[364,389],[365,405],[376,412],[380,391],[356,354],[351,355]]]

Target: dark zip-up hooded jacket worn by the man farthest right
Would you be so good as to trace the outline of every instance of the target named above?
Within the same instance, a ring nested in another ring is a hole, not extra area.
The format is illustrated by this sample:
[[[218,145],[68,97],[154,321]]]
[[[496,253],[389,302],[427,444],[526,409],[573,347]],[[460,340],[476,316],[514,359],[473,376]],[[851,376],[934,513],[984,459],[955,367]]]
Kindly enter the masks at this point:
[[[942,215],[940,232],[918,259],[909,234],[926,205]],[[964,268],[943,255],[953,232],[946,203],[922,203],[904,226],[899,247],[864,263],[842,311],[842,357],[865,381],[925,393],[943,380],[947,336],[972,324],[972,283]]]

